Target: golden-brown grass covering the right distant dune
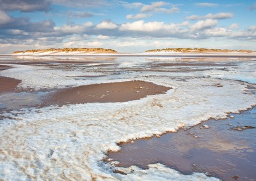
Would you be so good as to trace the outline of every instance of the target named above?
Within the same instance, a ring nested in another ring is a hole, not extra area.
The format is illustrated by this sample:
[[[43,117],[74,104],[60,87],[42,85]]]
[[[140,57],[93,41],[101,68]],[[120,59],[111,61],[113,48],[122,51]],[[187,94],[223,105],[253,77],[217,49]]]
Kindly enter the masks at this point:
[[[208,48],[164,48],[164,49],[154,49],[147,50],[146,52],[243,52],[243,53],[252,53],[252,50],[227,50],[227,49],[208,49]]]

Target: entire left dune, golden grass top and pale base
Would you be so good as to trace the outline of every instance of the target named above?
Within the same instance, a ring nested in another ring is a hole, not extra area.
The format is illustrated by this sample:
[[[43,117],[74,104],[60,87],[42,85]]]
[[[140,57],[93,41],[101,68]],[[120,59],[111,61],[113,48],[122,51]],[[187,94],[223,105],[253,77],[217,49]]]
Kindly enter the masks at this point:
[[[49,48],[49,49],[36,49],[36,50],[26,50],[26,51],[17,51],[13,52],[13,54],[17,55],[36,55],[36,54],[115,54],[117,53],[112,49],[104,49],[104,48]]]

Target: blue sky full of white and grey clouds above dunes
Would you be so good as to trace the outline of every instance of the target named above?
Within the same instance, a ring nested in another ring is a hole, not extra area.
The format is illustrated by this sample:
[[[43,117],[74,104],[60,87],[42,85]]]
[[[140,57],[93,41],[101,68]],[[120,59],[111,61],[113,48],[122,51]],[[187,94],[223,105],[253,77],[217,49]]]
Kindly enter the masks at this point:
[[[256,50],[256,0],[0,0],[0,54],[65,47]]]

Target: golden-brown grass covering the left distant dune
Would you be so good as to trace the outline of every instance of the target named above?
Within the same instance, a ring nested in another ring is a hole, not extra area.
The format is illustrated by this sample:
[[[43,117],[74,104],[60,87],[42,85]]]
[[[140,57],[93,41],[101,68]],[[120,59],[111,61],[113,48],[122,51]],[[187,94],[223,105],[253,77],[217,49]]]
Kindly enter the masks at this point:
[[[36,49],[36,50],[26,50],[26,51],[17,51],[13,54],[20,53],[39,53],[39,52],[109,52],[116,53],[116,50],[104,49],[104,48],[49,48],[49,49]]]

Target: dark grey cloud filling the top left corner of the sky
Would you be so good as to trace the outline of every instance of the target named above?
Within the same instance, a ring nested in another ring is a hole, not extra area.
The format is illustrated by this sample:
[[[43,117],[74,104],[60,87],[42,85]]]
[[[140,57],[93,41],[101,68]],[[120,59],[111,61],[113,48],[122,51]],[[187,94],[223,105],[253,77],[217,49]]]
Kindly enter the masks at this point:
[[[49,0],[1,0],[0,3],[0,9],[4,11],[47,11],[51,6],[51,2]]]

